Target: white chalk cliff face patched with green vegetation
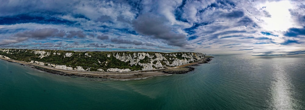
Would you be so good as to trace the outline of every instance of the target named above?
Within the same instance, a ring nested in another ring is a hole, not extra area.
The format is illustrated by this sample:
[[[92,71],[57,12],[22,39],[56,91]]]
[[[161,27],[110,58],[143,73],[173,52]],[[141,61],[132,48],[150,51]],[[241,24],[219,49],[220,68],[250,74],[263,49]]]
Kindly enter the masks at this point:
[[[192,52],[80,52],[0,49],[0,57],[67,70],[129,72],[185,65],[197,62],[205,58],[205,55]]]

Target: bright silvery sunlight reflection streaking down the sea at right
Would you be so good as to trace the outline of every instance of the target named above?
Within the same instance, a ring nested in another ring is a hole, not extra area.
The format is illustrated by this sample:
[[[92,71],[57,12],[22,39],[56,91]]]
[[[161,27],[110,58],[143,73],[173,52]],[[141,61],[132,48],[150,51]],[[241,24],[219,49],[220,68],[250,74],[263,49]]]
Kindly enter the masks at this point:
[[[293,109],[293,88],[289,73],[285,71],[285,65],[282,62],[274,62],[273,81],[271,84],[271,109],[290,110]]]

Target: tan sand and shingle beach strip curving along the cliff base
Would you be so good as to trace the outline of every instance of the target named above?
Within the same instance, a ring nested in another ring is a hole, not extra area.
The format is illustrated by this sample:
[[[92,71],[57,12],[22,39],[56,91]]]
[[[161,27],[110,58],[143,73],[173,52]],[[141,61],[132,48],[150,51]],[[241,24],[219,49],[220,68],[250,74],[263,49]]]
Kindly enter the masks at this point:
[[[137,79],[137,78],[147,78],[147,77],[159,76],[159,75],[170,75],[167,73],[163,73],[161,71],[162,69],[152,70],[152,71],[132,71],[132,72],[90,72],[90,71],[77,71],[77,70],[63,70],[63,69],[58,69],[58,68],[53,68],[53,67],[48,67],[48,66],[44,66],[44,65],[38,65],[38,64],[23,62],[23,61],[18,61],[18,60],[5,59],[5,58],[1,58],[1,59],[9,61],[9,62],[25,64],[25,65],[31,66],[33,68],[34,68],[34,66],[38,66],[38,67],[42,67],[45,69],[54,70],[55,74],[56,74],[56,71],[64,72],[66,74],[69,74],[69,76],[76,75],[76,76],[98,77],[98,78]],[[204,58],[203,60],[205,60],[205,59],[206,58]],[[196,65],[198,63],[204,62],[203,60],[199,61],[199,62],[189,63],[186,65],[171,67],[171,68],[167,68],[167,69],[180,68],[180,67],[185,67],[185,66],[189,66],[189,65]]]

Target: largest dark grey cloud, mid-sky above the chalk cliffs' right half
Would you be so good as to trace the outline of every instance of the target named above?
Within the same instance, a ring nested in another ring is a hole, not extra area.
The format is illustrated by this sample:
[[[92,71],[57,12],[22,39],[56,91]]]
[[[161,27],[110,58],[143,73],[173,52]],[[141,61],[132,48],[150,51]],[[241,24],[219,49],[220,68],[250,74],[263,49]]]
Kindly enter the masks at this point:
[[[167,26],[166,19],[161,16],[140,15],[132,21],[134,29],[142,35],[149,35],[153,38],[163,39],[165,43],[172,46],[183,47],[188,45],[186,36],[175,33]]]

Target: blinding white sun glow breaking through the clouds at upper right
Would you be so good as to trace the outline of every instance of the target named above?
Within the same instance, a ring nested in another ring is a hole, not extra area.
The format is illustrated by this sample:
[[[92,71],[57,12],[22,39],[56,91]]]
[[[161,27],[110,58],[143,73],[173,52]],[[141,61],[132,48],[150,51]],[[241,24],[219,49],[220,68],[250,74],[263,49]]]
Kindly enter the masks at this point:
[[[261,4],[260,8],[266,14],[266,17],[262,18],[265,22],[264,29],[268,31],[286,31],[288,28],[293,27],[294,23],[289,12],[292,5],[289,1],[266,2]]]

